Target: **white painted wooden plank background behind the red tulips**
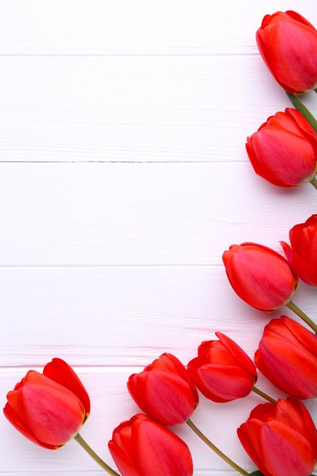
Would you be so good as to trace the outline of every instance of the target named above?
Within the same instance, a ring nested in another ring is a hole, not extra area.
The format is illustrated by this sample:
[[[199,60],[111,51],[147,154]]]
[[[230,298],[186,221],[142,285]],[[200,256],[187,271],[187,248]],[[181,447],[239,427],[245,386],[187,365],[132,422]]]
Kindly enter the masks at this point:
[[[289,106],[255,43],[278,9],[317,24],[314,0],[0,3],[1,398],[29,368],[66,359],[91,396],[82,434],[109,464],[112,429],[137,412],[132,372],[164,351],[186,363],[217,330],[253,356],[272,316],[234,295],[222,251],[281,251],[317,210],[309,184],[275,188],[245,152],[246,136]],[[317,113],[316,95],[305,101]],[[314,320],[316,292],[300,283],[294,299]],[[260,402],[202,397],[192,419],[251,470],[235,429]],[[35,447],[4,417],[0,431],[1,476],[103,473],[75,442]],[[233,475],[189,428],[176,431],[196,476]]]

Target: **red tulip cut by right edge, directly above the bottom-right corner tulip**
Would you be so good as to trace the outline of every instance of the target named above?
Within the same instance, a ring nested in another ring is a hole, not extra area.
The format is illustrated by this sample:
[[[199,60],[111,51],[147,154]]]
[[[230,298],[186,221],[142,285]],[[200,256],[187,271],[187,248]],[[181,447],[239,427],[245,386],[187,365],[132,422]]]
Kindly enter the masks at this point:
[[[288,395],[317,397],[317,336],[293,319],[282,316],[266,325],[255,363]]]

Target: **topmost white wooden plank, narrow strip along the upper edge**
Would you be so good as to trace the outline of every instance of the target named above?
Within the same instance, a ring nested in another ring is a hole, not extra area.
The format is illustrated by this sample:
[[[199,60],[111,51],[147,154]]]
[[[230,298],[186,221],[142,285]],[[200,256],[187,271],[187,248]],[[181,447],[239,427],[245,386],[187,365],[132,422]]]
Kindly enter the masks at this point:
[[[312,23],[313,2],[274,0],[2,0],[2,54],[257,53],[255,31],[276,9]]]

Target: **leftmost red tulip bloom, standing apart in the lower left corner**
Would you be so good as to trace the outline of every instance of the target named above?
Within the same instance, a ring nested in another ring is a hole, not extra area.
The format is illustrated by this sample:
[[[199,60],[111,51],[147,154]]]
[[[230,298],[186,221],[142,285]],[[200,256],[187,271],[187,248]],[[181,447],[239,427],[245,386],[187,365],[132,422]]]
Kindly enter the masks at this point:
[[[7,395],[4,414],[33,443],[56,450],[75,436],[90,412],[89,396],[64,360],[43,374],[30,370]]]

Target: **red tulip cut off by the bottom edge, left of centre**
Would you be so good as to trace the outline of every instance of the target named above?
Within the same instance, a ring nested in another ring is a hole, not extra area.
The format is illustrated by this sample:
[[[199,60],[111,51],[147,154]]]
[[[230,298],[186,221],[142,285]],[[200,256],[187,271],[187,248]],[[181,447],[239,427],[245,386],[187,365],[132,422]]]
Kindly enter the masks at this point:
[[[187,445],[142,414],[115,428],[108,447],[122,476],[191,476],[193,472]]]

